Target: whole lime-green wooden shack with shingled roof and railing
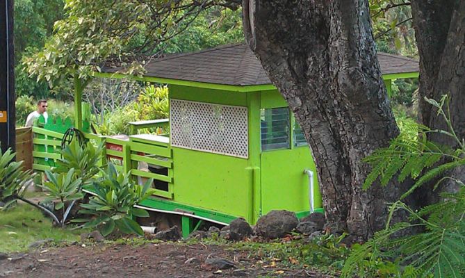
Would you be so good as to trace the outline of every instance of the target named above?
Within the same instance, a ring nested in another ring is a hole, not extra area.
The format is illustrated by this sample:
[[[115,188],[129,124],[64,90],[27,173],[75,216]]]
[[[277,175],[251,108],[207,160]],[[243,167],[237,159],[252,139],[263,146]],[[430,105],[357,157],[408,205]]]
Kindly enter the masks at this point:
[[[416,60],[383,53],[378,59],[389,92],[393,79],[418,77]],[[120,145],[107,155],[121,158],[124,171],[155,179],[156,195],[141,207],[181,215],[184,236],[197,220],[228,224],[242,217],[255,224],[272,210],[294,211],[297,217],[323,211],[302,130],[246,44],[158,58],[142,77],[119,70],[106,68],[96,76],[169,87],[168,136],[105,138],[107,145]],[[76,90],[76,113],[80,94]],[[136,131],[167,122],[132,124]]]

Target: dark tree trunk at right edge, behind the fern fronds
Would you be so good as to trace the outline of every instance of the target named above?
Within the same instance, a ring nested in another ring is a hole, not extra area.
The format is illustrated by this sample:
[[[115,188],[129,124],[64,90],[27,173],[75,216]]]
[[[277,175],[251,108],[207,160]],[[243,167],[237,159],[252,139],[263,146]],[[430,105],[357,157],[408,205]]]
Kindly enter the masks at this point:
[[[412,0],[411,10],[420,53],[420,120],[432,129],[447,130],[444,120],[423,98],[438,100],[448,95],[452,126],[459,138],[465,138],[465,1]],[[433,133],[430,140],[457,147],[455,140],[439,133]],[[465,181],[463,167],[449,174]],[[452,181],[444,187],[450,192],[458,189]],[[430,202],[434,202],[432,197]]]

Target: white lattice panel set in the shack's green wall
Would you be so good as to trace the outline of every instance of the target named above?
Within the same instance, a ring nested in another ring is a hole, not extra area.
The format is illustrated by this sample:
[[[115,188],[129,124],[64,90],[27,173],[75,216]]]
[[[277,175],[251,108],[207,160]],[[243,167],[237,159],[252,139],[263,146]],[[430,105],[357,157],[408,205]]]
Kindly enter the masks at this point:
[[[171,99],[171,145],[248,158],[247,107]]]

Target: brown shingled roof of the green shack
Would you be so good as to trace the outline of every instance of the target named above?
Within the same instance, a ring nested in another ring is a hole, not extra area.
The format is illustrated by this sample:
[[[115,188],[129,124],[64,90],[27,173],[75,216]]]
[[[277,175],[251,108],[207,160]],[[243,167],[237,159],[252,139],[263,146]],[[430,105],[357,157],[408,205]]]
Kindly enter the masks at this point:
[[[382,74],[418,72],[418,61],[404,56],[378,53]],[[106,69],[116,72],[118,69]],[[231,44],[152,60],[145,76],[222,85],[271,84],[260,61],[246,44]]]

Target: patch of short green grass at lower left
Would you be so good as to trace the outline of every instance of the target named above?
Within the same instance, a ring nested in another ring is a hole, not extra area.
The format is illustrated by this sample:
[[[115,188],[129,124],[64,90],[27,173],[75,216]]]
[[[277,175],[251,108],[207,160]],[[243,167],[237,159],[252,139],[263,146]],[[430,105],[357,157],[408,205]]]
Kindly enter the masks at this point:
[[[79,240],[81,233],[82,229],[53,227],[51,220],[26,204],[0,211],[0,252],[24,252],[31,243],[48,238],[56,242]]]

